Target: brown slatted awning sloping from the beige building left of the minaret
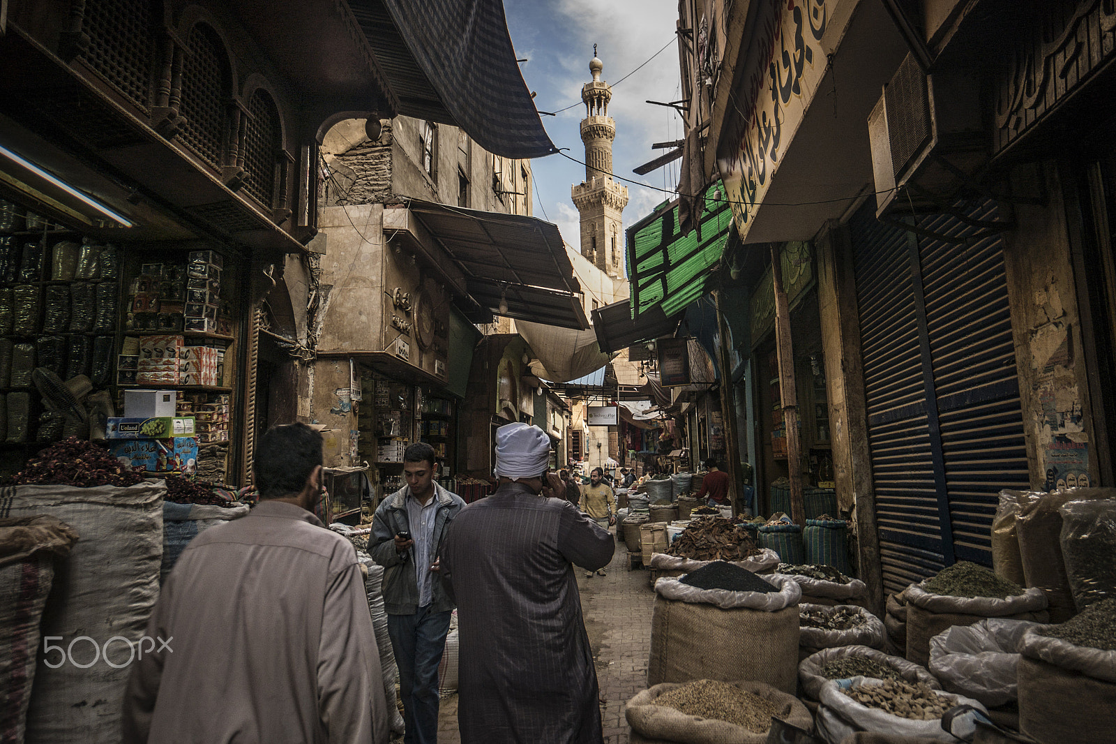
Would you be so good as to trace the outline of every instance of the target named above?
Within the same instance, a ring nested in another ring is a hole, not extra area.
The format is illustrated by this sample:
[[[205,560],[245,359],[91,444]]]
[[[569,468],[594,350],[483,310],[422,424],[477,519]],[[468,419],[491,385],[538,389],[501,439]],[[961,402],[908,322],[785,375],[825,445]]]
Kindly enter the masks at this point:
[[[413,200],[406,207],[385,208],[384,230],[406,231],[420,242],[426,236],[440,242],[461,269],[461,288],[492,313],[500,313],[503,301],[508,309],[500,314],[517,321],[589,327],[581,286],[556,225],[522,214]]]

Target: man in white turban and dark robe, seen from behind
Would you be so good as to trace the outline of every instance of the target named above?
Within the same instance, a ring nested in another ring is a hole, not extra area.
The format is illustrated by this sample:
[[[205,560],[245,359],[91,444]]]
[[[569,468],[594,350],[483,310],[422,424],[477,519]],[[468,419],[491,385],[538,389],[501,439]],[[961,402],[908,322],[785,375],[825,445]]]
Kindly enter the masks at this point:
[[[574,565],[602,569],[616,544],[562,497],[546,432],[509,423],[496,438],[499,488],[463,508],[442,543],[458,604],[461,742],[600,744]]]

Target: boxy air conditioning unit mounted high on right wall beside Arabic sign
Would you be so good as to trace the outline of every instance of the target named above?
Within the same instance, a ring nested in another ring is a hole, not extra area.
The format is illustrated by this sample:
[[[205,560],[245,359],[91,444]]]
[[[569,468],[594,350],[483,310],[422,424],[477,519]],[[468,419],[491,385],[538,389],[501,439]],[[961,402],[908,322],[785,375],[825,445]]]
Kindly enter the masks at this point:
[[[868,115],[876,216],[949,207],[988,163],[979,79],[966,70],[899,65]]]

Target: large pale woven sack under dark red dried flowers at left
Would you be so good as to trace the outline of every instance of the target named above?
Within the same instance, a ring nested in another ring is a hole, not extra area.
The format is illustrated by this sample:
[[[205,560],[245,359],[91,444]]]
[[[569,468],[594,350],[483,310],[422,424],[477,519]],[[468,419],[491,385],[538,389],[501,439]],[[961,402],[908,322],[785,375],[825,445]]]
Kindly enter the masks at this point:
[[[55,590],[42,614],[44,636],[60,637],[66,645],[79,636],[100,645],[117,636],[133,646],[140,642],[158,598],[165,493],[162,480],[128,488],[0,489],[0,513],[47,514],[80,535],[55,570]],[[92,656],[87,643],[78,649]],[[132,654],[127,643],[114,642],[84,669],[71,664],[51,669],[40,658],[27,712],[28,743],[119,742]]]

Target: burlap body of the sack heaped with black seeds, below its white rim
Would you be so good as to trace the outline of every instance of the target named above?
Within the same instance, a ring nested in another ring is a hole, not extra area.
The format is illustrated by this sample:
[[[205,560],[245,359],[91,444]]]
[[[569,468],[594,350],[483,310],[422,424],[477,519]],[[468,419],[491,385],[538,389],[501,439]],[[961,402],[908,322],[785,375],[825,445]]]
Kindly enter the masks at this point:
[[[655,598],[650,687],[664,681],[745,679],[793,694],[797,674],[797,604],[764,612]]]

